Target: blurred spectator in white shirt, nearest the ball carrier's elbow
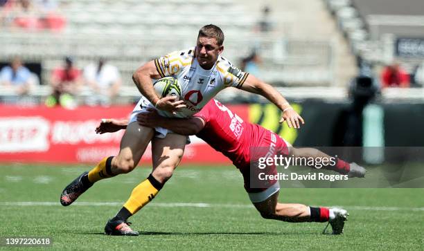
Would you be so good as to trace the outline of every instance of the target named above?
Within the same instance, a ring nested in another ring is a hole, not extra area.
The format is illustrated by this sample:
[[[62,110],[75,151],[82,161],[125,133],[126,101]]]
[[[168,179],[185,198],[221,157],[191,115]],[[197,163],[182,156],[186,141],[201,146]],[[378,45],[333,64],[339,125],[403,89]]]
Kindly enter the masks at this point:
[[[91,89],[86,103],[94,106],[109,106],[121,87],[121,75],[118,68],[99,59],[97,64],[89,64],[84,68],[85,84]]]

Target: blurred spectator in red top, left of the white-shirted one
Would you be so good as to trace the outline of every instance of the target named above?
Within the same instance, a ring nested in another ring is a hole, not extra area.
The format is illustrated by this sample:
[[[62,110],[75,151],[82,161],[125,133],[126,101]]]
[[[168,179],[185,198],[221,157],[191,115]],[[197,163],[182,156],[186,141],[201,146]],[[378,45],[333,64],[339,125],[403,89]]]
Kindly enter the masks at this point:
[[[60,104],[65,108],[76,106],[75,96],[81,86],[81,72],[73,66],[73,59],[65,57],[64,66],[55,68],[51,74],[51,88],[53,93],[47,97],[46,106]]]

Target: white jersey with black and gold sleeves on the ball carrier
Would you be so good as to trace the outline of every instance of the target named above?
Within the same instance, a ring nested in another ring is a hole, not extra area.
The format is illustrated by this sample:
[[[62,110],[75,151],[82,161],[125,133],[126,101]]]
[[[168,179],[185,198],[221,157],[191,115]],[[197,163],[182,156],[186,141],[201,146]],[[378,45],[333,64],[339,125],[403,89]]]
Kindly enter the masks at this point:
[[[177,113],[178,118],[186,118],[199,112],[226,87],[240,88],[249,75],[221,56],[218,56],[210,70],[205,70],[195,58],[195,48],[159,57],[154,60],[154,64],[161,77],[175,77],[182,86],[182,100],[185,101],[186,108]]]

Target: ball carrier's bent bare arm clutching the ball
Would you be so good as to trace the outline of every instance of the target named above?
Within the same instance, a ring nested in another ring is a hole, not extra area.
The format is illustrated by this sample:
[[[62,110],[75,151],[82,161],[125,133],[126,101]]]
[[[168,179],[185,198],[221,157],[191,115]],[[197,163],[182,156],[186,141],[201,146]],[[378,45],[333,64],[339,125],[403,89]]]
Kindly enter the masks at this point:
[[[174,102],[176,97],[163,97],[159,99],[153,88],[152,79],[159,79],[159,74],[154,61],[147,62],[140,68],[138,68],[132,75],[134,84],[139,89],[140,93],[157,108],[164,111],[175,112],[178,109],[185,107],[183,100]]]

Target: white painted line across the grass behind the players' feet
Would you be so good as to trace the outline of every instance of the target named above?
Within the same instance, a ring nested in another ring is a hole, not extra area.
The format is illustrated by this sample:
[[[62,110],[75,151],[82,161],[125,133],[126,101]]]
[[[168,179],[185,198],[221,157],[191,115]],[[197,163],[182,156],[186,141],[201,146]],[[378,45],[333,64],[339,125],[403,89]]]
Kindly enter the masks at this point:
[[[0,206],[59,206],[60,203],[53,201],[0,201]],[[123,202],[76,202],[73,206],[122,206]],[[150,203],[149,207],[227,207],[227,208],[253,208],[249,204],[211,204],[211,203]],[[337,206],[346,210],[370,210],[370,211],[424,211],[424,207],[372,207],[372,206]]]

